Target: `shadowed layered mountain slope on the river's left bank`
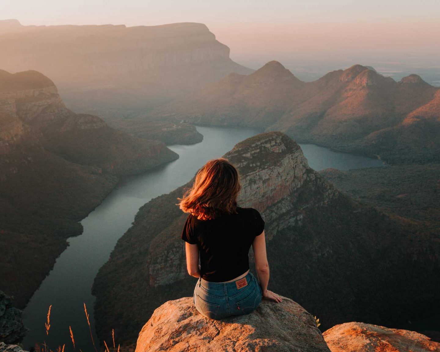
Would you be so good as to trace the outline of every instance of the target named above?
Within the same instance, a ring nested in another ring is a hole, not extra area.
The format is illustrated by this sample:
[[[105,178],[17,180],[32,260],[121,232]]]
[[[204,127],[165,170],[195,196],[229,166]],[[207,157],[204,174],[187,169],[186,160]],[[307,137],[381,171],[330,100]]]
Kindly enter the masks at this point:
[[[0,70],[0,288],[22,307],[119,176],[177,157],[74,114],[39,72]]]

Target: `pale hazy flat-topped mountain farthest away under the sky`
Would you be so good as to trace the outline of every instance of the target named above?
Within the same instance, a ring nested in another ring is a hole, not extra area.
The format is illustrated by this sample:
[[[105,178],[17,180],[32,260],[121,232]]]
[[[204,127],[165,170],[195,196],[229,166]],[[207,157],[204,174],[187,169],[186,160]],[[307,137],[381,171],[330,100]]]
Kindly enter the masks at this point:
[[[72,109],[104,117],[145,110],[231,72],[250,73],[201,23],[22,26],[0,21],[0,67],[51,77]]]

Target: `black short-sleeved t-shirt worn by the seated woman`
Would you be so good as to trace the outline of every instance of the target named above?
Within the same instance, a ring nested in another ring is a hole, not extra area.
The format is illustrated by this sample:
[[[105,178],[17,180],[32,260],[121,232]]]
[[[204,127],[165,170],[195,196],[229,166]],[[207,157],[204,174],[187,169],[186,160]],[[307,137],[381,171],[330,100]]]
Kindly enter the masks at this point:
[[[249,269],[250,246],[263,230],[264,220],[257,210],[237,207],[237,214],[212,220],[198,220],[190,214],[181,238],[198,245],[202,279],[224,282]]]

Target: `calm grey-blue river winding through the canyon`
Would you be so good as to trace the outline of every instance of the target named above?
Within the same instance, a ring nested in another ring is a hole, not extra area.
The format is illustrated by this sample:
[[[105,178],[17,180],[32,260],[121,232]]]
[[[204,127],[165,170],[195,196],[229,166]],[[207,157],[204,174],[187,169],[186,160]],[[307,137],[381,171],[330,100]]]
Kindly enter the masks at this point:
[[[131,226],[138,209],[151,198],[169,193],[191,180],[207,160],[222,156],[236,143],[258,133],[252,129],[197,129],[204,136],[203,142],[192,146],[171,146],[180,155],[178,160],[142,175],[126,178],[81,221],[83,234],[69,238],[70,246],[56,260],[55,267],[23,312],[23,322],[30,329],[23,341],[25,348],[35,342],[46,341],[52,350],[64,343],[69,347],[68,350],[72,350],[69,334],[71,326],[76,350],[92,351],[83,303],[87,305],[94,331],[93,280],[99,268],[108,260],[118,238]],[[301,147],[309,165],[317,171],[327,167],[347,170],[382,165],[378,160],[338,153],[310,144]],[[44,323],[49,305],[52,305],[51,328],[46,336]],[[94,339],[98,341],[95,335]]]

